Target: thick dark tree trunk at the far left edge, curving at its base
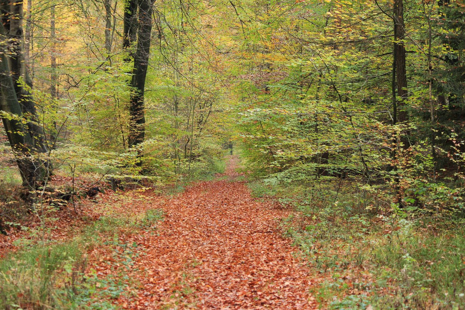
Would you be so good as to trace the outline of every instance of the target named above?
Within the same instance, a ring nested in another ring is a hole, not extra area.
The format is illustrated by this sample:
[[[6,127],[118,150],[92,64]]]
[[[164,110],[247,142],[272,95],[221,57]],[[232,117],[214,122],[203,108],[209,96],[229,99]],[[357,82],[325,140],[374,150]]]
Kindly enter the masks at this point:
[[[39,159],[46,153],[45,135],[39,125],[35,103],[28,90],[32,87],[24,59],[22,0],[1,1],[3,25],[0,25],[2,50],[0,63],[0,109],[23,185],[35,189],[37,182],[47,178],[48,161]],[[7,55],[6,55],[7,54]],[[22,119],[26,120],[24,124]]]

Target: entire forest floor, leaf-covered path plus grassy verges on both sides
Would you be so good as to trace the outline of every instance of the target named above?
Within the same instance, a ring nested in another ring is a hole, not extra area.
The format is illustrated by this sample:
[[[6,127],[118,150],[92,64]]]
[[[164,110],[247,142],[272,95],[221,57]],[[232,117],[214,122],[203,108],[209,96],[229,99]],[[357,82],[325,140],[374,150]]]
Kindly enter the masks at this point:
[[[0,308],[465,309],[462,222],[306,209],[226,162],[209,181],[101,182],[92,200],[18,218],[0,235]]]

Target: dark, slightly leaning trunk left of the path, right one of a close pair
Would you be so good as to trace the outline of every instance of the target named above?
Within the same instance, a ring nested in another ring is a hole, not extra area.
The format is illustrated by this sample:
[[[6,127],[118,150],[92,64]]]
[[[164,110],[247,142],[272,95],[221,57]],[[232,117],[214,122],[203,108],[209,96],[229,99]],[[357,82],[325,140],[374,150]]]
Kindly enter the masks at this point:
[[[144,88],[150,55],[153,2],[154,0],[141,0],[139,4],[139,31],[131,82],[133,91],[129,103],[130,146],[138,145],[145,137]]]

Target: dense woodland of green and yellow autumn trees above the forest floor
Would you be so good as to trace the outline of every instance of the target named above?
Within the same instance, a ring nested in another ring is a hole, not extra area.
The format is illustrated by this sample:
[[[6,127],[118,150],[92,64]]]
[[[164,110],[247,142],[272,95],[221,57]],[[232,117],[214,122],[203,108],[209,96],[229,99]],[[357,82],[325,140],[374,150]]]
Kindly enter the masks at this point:
[[[2,119],[24,185],[63,165],[172,181],[233,140],[277,182],[460,208],[459,2],[22,5]]]

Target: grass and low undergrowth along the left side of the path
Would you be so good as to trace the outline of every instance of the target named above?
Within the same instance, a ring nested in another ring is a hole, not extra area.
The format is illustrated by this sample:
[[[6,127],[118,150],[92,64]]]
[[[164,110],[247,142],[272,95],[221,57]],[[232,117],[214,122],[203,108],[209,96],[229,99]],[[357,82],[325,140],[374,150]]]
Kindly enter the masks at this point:
[[[127,218],[102,217],[87,225],[73,241],[27,245],[0,260],[0,309],[116,309],[112,300],[124,294],[130,279],[124,274],[97,276],[86,270],[87,251],[114,247],[122,264],[134,264],[135,244],[121,235],[139,229],[156,229],[163,219],[160,209],[148,210],[137,223]],[[116,250],[120,249],[120,250]]]

